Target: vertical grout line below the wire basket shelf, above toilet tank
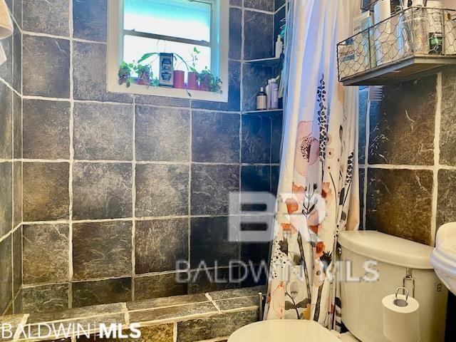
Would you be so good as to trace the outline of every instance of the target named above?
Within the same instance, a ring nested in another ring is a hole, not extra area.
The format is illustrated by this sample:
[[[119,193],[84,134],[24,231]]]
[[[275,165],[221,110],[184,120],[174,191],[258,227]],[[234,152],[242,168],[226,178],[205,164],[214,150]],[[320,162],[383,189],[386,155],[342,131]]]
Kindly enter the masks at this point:
[[[437,233],[437,203],[438,203],[438,173],[440,168],[440,123],[442,118],[442,72],[437,73],[437,108],[435,110],[434,130],[434,167],[432,168],[432,211],[430,222],[430,244],[435,245],[435,234]]]

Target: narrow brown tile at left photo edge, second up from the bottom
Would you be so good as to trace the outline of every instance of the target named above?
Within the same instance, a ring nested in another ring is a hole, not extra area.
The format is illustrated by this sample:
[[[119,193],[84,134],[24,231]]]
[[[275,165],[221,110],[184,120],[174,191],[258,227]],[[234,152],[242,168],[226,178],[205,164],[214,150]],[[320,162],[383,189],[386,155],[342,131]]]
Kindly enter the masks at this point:
[[[13,227],[13,165],[0,162],[0,237]],[[3,311],[0,311],[3,313]]]

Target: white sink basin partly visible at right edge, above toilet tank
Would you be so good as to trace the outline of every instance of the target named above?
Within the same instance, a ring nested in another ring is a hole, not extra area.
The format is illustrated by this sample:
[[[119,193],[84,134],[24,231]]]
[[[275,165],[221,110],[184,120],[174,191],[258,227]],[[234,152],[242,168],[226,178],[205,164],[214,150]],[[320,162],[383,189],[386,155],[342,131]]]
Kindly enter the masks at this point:
[[[456,294],[456,222],[439,228],[430,261],[442,283]]]

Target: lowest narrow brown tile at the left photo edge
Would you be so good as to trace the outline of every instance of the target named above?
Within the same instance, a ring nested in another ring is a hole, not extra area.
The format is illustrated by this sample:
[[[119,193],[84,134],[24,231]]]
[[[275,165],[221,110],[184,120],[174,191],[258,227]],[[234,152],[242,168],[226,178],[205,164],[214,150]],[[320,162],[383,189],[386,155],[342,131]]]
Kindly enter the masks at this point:
[[[0,242],[0,313],[9,305],[12,295],[11,278],[11,235]],[[0,315],[1,316],[1,315]]]

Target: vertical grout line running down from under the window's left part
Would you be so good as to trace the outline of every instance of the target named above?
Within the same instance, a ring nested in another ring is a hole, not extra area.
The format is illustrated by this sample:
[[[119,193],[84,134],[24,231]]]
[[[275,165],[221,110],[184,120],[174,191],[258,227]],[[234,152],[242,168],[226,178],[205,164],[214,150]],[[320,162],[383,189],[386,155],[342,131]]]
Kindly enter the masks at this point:
[[[131,214],[133,222],[131,225],[131,299],[135,300],[135,278],[136,278],[136,97],[133,96],[133,108],[132,108],[132,172],[131,172],[131,203],[132,209]]]

